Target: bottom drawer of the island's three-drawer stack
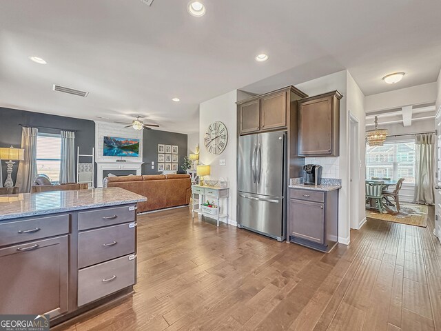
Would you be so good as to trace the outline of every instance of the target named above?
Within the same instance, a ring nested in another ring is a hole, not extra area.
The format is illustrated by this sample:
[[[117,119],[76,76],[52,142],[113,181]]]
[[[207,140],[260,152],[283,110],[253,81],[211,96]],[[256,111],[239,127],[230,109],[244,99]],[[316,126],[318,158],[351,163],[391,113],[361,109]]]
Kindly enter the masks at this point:
[[[127,255],[78,272],[78,305],[101,299],[136,283],[136,256]]]

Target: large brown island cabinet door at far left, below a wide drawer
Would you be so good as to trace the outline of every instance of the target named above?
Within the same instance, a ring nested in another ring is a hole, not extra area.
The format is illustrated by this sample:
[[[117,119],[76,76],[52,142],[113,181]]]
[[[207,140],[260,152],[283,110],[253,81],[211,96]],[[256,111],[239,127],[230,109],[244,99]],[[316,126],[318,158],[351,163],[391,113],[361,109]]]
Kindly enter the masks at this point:
[[[68,236],[0,249],[1,314],[68,311]]]

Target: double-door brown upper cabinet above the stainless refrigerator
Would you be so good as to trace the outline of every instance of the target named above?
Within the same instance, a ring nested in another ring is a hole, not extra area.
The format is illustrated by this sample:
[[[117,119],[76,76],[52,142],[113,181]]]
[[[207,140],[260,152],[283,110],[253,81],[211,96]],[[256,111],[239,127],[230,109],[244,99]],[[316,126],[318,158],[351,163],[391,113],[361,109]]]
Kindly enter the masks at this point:
[[[274,92],[238,102],[238,132],[240,135],[283,130],[288,127],[290,103],[307,94],[289,86]]]

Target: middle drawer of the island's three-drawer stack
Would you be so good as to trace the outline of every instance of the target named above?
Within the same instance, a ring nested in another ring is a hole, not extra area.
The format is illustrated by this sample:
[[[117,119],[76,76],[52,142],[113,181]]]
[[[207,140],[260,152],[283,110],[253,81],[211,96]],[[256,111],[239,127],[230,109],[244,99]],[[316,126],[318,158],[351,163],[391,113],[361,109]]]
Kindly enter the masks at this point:
[[[78,268],[135,252],[136,223],[108,226],[78,234]]]

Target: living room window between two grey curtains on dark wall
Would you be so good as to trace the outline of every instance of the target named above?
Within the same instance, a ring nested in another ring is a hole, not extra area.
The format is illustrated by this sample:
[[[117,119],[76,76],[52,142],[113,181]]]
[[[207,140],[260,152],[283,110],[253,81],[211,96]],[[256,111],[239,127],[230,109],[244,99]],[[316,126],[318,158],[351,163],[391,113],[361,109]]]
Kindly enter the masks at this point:
[[[39,133],[37,136],[37,172],[45,174],[50,181],[60,180],[61,136]]]

